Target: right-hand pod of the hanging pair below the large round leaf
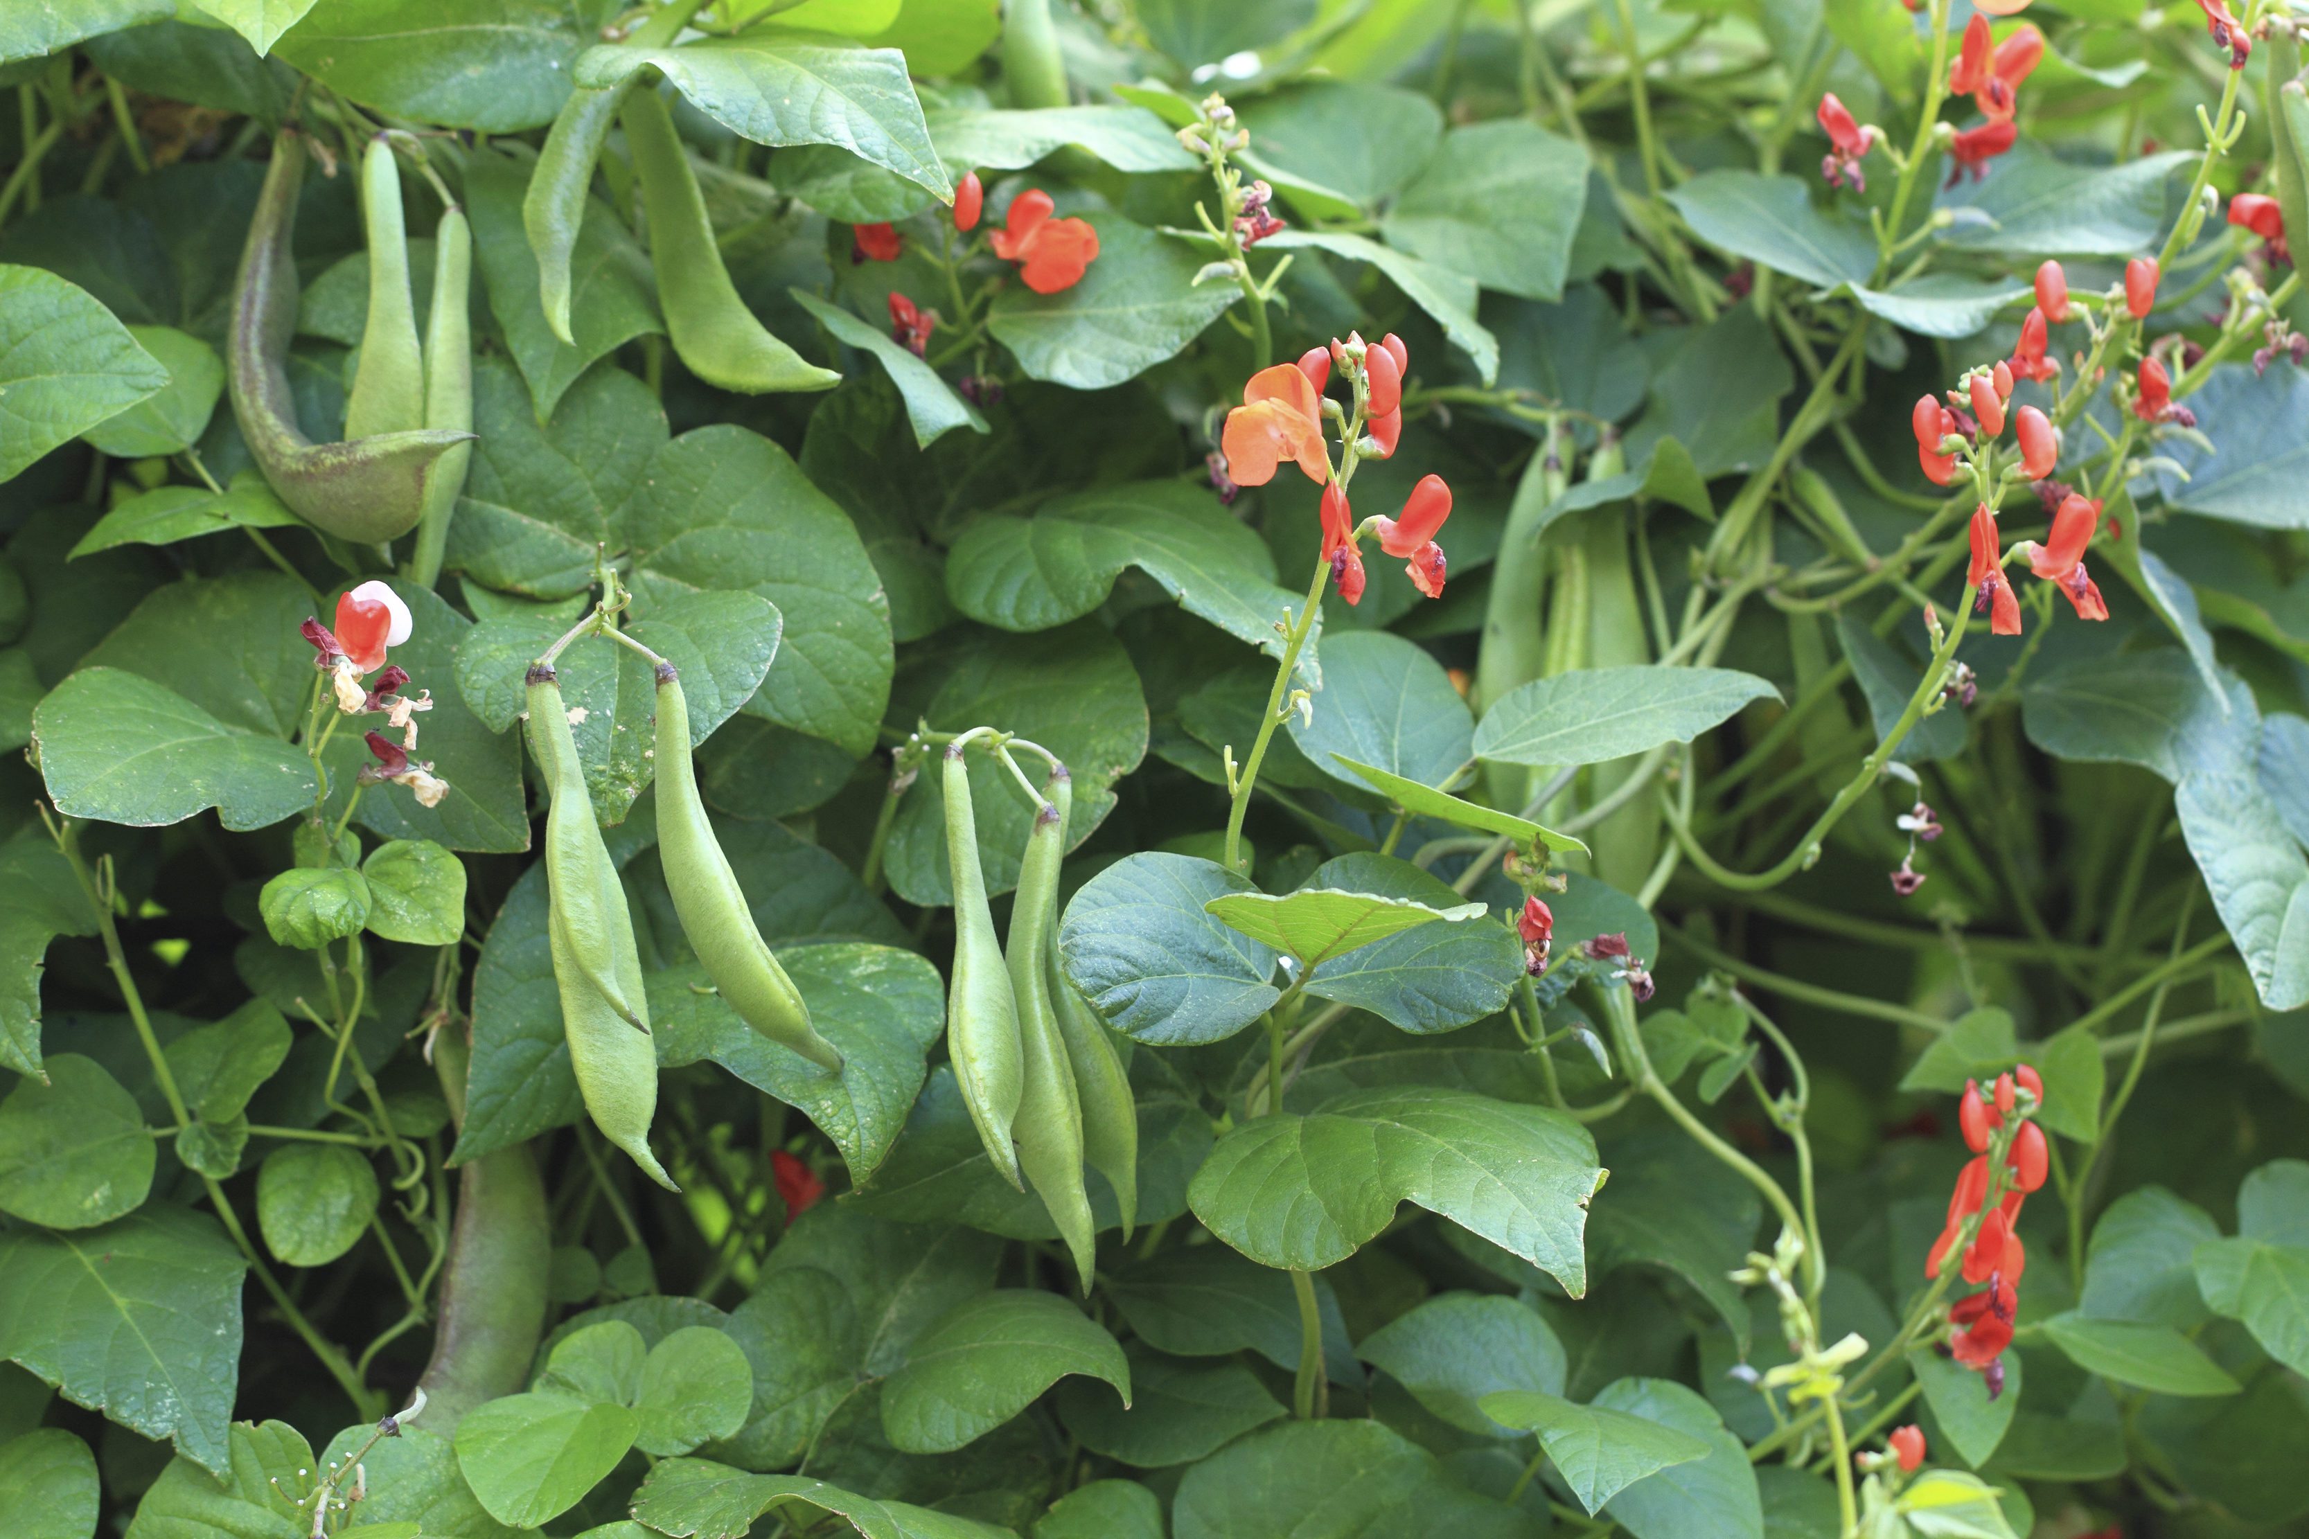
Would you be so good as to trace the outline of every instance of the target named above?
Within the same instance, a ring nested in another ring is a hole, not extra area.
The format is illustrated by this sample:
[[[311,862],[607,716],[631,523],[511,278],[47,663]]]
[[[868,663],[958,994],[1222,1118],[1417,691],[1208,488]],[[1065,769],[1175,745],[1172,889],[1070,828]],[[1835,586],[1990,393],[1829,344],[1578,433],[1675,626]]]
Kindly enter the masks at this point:
[[[681,932],[739,1020],[840,1073],[840,1050],[810,1024],[810,1006],[755,928],[746,891],[707,821],[690,764],[690,706],[672,662],[658,665],[658,858]]]

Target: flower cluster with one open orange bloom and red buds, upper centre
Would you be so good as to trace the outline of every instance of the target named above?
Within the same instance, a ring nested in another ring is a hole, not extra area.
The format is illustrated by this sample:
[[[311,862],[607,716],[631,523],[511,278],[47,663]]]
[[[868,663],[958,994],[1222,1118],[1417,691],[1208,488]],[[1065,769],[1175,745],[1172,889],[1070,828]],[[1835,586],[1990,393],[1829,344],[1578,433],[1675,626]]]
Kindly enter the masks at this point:
[[[1328,348],[1307,348],[1295,365],[1281,362],[1261,369],[1242,388],[1242,406],[1226,413],[1226,429],[1219,436],[1224,466],[1212,466],[1212,478],[1224,475],[1231,487],[1263,487],[1275,480],[1275,468],[1286,459],[1298,464],[1307,480],[1323,482],[1323,561],[1330,563],[1339,598],[1355,605],[1362,600],[1365,533],[1378,538],[1378,549],[1404,558],[1404,572],[1427,598],[1443,595],[1445,561],[1436,545],[1436,531],[1450,517],[1450,487],[1441,475],[1422,475],[1411,496],[1404,498],[1399,517],[1374,517],[1362,528],[1353,524],[1346,505],[1346,489],[1332,480],[1330,452],[1323,445],[1323,388],[1330,383],[1330,365],[1339,362],[1348,378],[1362,376],[1365,385],[1365,455],[1388,459],[1404,434],[1404,371],[1411,367],[1411,348],[1395,332],[1378,341],[1362,341],[1348,335],[1332,339]]]

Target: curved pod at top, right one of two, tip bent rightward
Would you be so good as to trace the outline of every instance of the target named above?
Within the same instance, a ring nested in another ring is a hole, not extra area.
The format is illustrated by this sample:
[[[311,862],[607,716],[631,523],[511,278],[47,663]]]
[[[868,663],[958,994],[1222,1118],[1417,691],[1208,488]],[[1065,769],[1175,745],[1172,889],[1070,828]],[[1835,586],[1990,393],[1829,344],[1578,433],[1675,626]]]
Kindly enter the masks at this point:
[[[723,268],[707,201],[697,192],[674,136],[674,120],[651,90],[626,97],[626,148],[642,180],[642,203],[649,210],[649,261],[658,270],[658,307],[674,353],[690,374],[720,385],[762,395],[764,390],[831,390],[843,383],[834,369],[820,369],[785,346],[755,321],[737,295],[730,270]]]

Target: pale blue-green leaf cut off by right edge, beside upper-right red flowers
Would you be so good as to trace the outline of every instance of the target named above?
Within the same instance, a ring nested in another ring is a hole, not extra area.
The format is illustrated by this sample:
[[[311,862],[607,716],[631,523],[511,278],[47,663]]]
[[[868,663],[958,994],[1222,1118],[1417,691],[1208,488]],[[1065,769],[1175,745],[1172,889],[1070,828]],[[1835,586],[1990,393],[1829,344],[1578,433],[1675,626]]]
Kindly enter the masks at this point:
[[[2207,455],[2187,438],[2159,452],[2187,473],[2159,471],[2166,503],[2258,528],[2302,528],[2300,478],[2309,466],[2309,376],[2279,369],[2261,378],[2247,365],[2219,365],[2191,397],[2212,429]]]

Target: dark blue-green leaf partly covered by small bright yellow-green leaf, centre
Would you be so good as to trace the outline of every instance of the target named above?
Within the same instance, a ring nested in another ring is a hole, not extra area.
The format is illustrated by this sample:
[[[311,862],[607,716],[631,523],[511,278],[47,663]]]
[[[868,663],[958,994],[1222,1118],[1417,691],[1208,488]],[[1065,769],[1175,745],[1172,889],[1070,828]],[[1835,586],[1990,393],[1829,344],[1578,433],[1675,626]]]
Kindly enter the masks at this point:
[[[1348,854],[1325,861],[1300,891],[1330,888],[1362,898],[1388,898],[1434,909],[1443,918],[1485,904],[1462,904],[1443,879],[1408,861],[1381,854]],[[1226,900],[1235,902],[1235,900]],[[1399,1031],[1455,1031],[1494,1015],[1524,976],[1524,944],[1496,923],[1408,928],[1388,939],[1332,953],[1307,992],[1372,1011]]]

